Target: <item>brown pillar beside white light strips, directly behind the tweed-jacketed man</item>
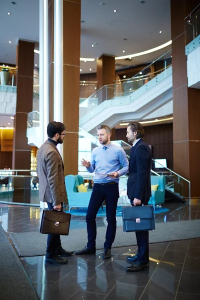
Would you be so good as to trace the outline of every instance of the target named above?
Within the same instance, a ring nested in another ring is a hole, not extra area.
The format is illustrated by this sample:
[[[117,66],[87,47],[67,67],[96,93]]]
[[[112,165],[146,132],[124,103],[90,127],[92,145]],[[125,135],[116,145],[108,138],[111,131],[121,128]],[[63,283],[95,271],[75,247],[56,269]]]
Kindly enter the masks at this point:
[[[64,173],[78,172],[81,0],[63,0],[63,143]]]

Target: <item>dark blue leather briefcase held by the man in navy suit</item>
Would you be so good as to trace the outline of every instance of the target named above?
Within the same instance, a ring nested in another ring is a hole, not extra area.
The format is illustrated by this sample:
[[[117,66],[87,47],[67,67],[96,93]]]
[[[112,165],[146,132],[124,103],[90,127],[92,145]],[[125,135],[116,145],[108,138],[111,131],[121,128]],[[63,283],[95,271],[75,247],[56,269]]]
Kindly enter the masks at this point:
[[[123,231],[148,231],[155,229],[152,205],[122,207]]]

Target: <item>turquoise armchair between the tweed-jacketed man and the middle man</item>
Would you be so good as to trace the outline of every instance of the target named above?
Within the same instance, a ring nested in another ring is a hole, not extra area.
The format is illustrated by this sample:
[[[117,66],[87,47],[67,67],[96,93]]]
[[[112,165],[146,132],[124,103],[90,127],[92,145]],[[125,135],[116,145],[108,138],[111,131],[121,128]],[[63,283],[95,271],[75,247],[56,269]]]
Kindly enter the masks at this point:
[[[66,193],[68,198],[69,212],[72,207],[88,207],[91,191],[78,192],[77,185],[83,183],[81,175],[66,175],[65,178]]]

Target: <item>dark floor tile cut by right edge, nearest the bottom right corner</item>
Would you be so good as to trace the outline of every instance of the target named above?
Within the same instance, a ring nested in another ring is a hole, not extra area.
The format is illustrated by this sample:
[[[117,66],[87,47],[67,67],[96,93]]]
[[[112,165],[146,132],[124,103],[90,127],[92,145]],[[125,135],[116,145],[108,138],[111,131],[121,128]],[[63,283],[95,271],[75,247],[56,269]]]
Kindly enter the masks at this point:
[[[182,272],[178,287],[179,292],[200,295],[200,273]]]

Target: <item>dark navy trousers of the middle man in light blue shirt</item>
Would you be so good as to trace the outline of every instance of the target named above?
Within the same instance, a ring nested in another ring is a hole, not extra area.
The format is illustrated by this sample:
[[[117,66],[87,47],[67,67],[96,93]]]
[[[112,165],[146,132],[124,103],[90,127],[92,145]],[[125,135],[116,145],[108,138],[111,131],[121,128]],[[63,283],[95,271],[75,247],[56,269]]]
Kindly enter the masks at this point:
[[[116,207],[119,197],[118,183],[94,183],[86,214],[87,247],[95,249],[96,240],[96,214],[105,200],[107,229],[104,248],[111,248],[116,234]]]

